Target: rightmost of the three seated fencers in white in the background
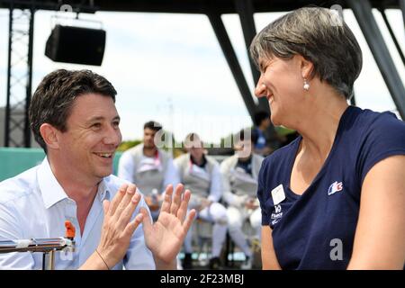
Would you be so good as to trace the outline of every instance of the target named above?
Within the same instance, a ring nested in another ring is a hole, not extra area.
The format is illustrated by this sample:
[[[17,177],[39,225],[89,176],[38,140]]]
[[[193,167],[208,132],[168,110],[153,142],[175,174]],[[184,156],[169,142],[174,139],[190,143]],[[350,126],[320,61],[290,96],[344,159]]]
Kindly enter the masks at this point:
[[[255,229],[260,238],[261,211],[257,199],[257,177],[263,157],[252,152],[252,133],[241,130],[234,144],[235,155],[220,164],[223,179],[223,199],[228,204],[228,225],[230,238],[245,253],[242,269],[250,269],[252,252],[242,230],[245,220]]]

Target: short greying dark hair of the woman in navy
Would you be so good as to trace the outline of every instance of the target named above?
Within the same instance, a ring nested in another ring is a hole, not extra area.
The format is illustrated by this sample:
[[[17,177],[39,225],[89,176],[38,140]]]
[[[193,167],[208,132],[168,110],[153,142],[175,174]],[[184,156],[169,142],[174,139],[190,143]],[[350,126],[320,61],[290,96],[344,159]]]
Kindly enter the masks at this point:
[[[250,45],[256,64],[259,58],[293,58],[302,55],[313,63],[319,76],[349,99],[363,65],[355,35],[336,10],[304,7],[275,20],[260,31]]]

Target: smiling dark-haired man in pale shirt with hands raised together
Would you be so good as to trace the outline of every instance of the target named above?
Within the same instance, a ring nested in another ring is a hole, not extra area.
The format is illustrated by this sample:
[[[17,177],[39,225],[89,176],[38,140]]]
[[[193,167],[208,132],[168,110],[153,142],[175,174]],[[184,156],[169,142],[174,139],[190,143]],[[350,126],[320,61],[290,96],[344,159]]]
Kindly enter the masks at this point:
[[[47,157],[0,183],[0,240],[55,238],[76,227],[76,252],[57,269],[174,269],[193,221],[190,192],[166,189],[157,223],[134,184],[111,175],[121,142],[116,91],[91,71],[57,70],[31,99],[31,130]],[[141,226],[141,227],[139,227]],[[165,243],[165,246],[161,245]],[[0,254],[0,269],[40,269],[40,254]]]

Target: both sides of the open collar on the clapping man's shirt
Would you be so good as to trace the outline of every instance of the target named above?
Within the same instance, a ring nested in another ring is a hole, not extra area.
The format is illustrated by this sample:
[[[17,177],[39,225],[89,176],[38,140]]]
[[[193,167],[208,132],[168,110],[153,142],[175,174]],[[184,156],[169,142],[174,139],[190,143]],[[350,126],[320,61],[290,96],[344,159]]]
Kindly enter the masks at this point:
[[[57,202],[68,199],[67,193],[65,193],[50,169],[48,157],[43,159],[40,168],[38,169],[38,184],[40,186],[42,201],[45,204],[46,209],[49,209]],[[108,184],[106,183],[106,178],[103,178],[98,185],[96,197],[98,197],[100,202],[103,202],[104,199],[110,200],[110,191],[108,189]]]

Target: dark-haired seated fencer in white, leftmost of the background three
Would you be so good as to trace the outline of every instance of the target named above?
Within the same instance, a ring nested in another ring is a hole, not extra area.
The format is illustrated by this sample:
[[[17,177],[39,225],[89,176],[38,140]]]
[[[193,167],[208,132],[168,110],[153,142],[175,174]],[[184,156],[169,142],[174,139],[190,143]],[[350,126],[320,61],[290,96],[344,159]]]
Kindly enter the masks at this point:
[[[156,146],[155,136],[161,129],[162,126],[156,121],[146,122],[143,126],[143,143],[122,153],[118,164],[118,176],[136,183],[144,193],[153,220],[157,220],[165,187],[180,182],[173,157]]]

